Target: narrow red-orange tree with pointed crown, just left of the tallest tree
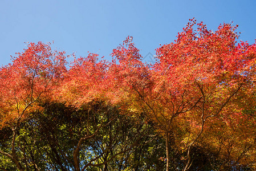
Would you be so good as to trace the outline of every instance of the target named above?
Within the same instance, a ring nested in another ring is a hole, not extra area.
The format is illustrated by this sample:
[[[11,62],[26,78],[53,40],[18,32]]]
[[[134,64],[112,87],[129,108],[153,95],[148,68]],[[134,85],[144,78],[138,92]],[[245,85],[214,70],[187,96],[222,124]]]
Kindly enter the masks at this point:
[[[128,36],[123,44],[114,49],[112,56],[113,61],[108,74],[112,80],[113,102],[121,101],[122,107],[128,108],[133,116],[139,117],[141,113],[147,113],[147,120],[154,121],[156,128],[159,128],[160,132],[168,133],[165,137],[169,137],[168,122],[172,119],[161,118],[161,106],[155,101],[159,98],[159,93],[154,92],[154,87],[161,80],[154,82],[152,74],[154,70],[141,62],[142,56],[132,43],[132,37]],[[169,143],[168,138],[166,142]],[[168,144],[166,144],[166,152],[169,158]],[[169,168],[169,162],[166,168]]]

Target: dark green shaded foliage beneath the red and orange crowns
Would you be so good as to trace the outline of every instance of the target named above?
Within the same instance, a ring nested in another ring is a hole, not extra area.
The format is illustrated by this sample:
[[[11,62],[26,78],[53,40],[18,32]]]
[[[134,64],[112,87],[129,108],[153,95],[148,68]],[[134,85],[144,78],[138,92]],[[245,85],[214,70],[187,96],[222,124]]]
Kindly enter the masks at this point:
[[[86,170],[162,170],[164,156],[162,137],[152,124],[141,117],[120,115],[117,107],[94,102],[82,108],[62,103],[42,105],[43,112],[31,113],[31,119],[19,124],[16,153],[25,170],[74,169],[74,150],[87,133],[99,132],[83,142],[79,150],[81,169]],[[10,152],[12,131],[1,129],[1,150]],[[96,160],[94,160],[96,158]],[[2,168],[15,164],[1,156]]]

